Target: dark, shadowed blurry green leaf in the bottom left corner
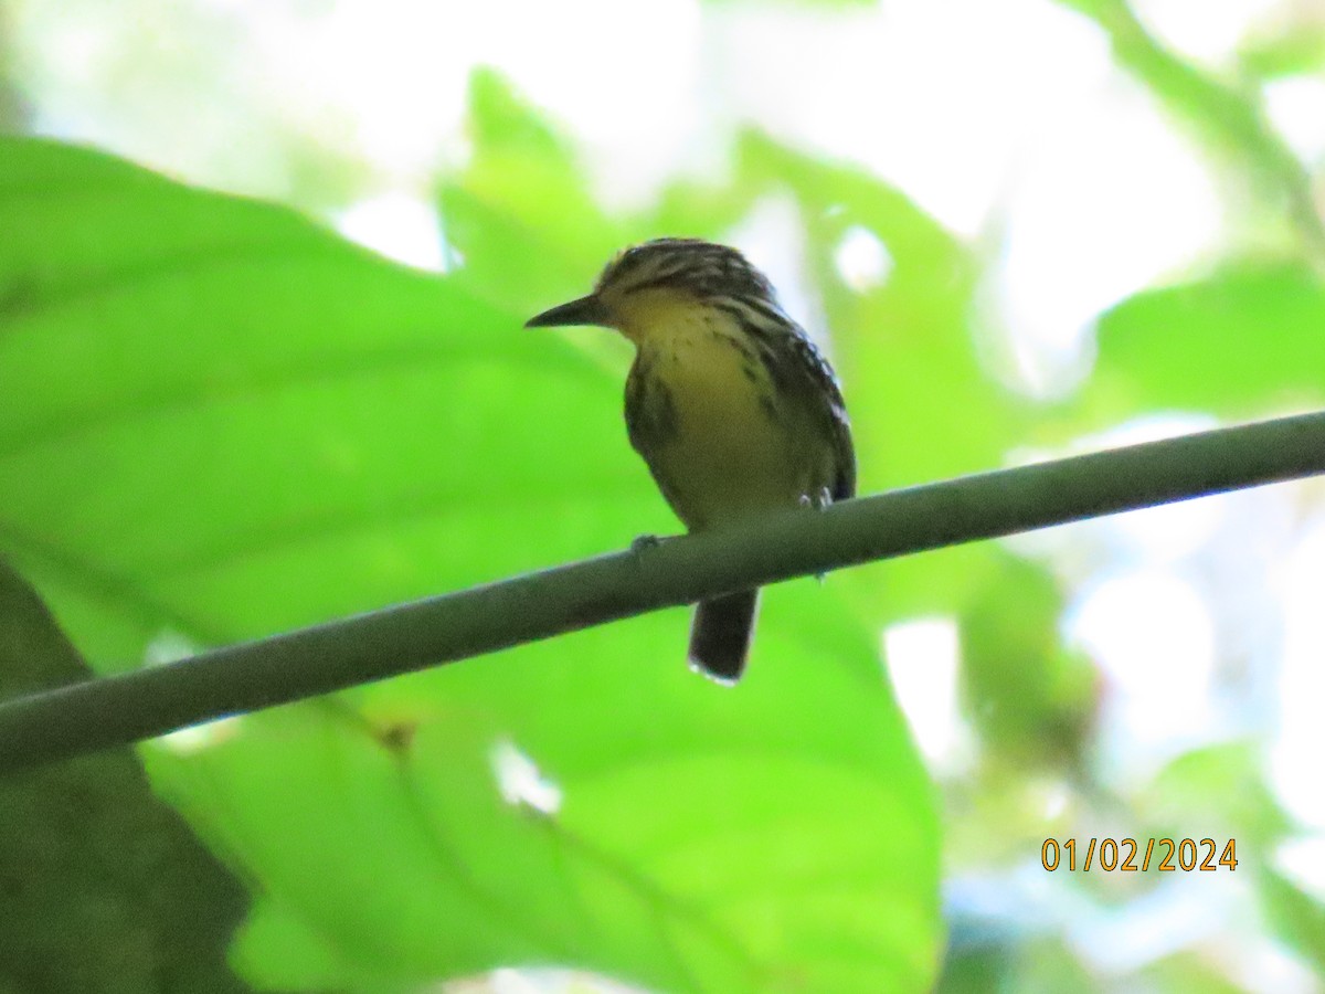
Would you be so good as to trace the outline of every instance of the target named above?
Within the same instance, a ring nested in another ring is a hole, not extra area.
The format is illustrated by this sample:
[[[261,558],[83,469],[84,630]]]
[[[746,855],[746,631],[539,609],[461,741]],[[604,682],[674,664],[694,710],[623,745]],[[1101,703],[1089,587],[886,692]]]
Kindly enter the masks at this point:
[[[0,562],[0,700],[89,676]],[[225,953],[245,904],[131,750],[0,777],[0,990],[240,994]]]

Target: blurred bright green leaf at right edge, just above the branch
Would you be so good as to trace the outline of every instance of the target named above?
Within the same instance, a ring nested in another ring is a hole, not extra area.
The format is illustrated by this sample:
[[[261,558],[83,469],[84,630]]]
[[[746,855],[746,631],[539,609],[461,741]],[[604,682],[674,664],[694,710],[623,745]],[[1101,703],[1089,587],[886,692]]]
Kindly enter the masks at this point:
[[[1085,403],[1104,419],[1239,416],[1325,396],[1325,285],[1302,266],[1236,264],[1143,292],[1100,318],[1098,338]]]

